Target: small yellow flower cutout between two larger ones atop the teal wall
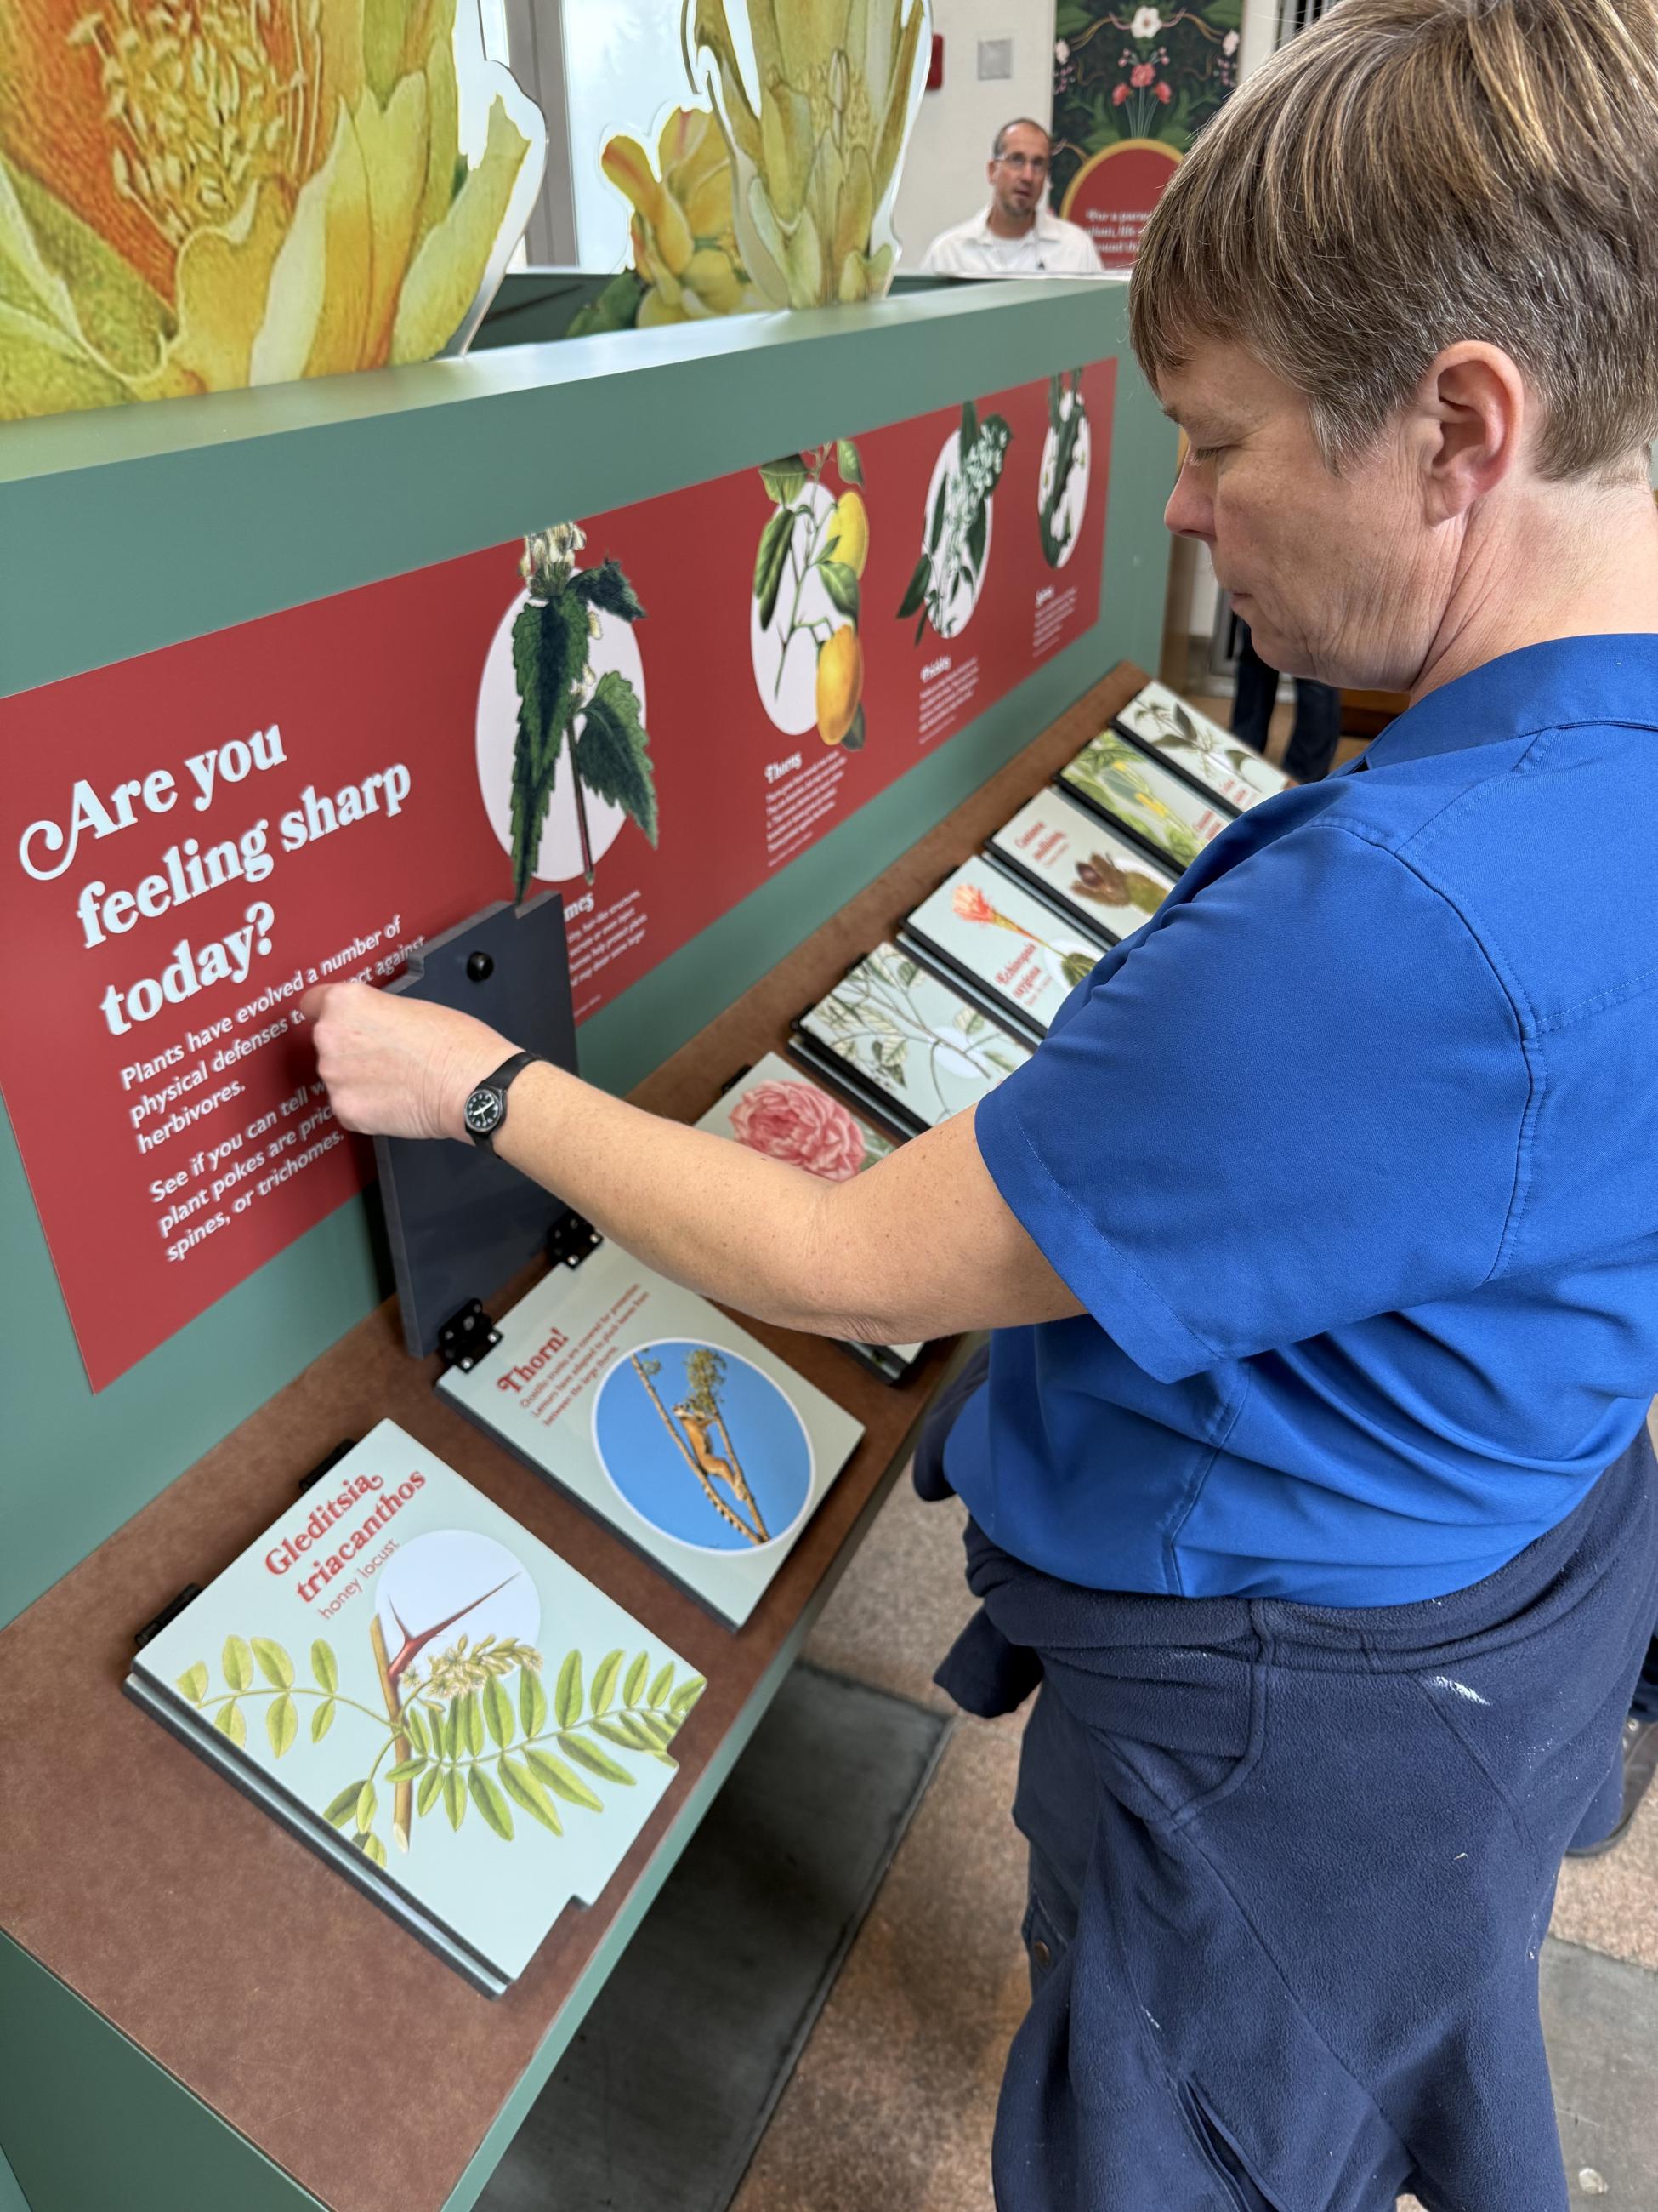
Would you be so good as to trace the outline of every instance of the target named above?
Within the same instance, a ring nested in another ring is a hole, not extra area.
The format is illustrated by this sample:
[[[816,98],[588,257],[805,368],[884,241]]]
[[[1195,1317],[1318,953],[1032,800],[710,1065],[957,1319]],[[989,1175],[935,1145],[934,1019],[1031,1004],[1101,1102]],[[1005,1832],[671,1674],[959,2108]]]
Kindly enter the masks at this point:
[[[763,307],[747,281],[732,223],[732,159],[707,108],[674,108],[657,144],[657,164],[632,137],[612,137],[606,177],[628,195],[632,265],[648,285],[637,321],[701,321]]]

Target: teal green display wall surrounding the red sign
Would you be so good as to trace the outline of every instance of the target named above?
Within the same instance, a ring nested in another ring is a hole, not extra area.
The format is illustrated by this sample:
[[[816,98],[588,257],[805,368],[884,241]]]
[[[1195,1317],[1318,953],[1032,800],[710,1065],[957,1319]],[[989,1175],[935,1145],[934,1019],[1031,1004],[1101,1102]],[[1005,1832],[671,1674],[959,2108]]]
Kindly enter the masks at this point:
[[[1127,356],[1123,301],[1121,285],[984,285],[9,425],[0,544],[29,560],[0,593],[0,695],[1119,354],[1096,628],[588,1022],[584,1073],[626,1091],[1105,668],[1156,666],[1174,431]],[[122,577],[97,624],[88,544]],[[93,1396],[2,1121],[0,1250],[0,1621],[389,1287],[374,1201],[345,1206]]]

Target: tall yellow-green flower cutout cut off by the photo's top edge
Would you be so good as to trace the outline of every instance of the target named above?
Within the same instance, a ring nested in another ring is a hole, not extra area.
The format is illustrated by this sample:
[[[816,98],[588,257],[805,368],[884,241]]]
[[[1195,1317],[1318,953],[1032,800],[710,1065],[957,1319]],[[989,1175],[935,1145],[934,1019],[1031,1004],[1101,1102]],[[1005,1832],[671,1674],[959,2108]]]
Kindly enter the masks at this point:
[[[926,0],[747,0],[758,100],[725,0],[685,0],[685,66],[714,60],[736,243],[769,307],[880,296],[875,243],[920,100]]]

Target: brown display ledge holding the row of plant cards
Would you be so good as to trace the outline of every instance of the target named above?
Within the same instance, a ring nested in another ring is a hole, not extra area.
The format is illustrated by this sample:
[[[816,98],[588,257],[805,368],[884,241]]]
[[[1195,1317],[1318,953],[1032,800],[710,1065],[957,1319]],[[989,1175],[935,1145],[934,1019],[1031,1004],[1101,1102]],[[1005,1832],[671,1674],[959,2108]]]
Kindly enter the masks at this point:
[[[634,1099],[701,1115],[1143,681],[1119,664]],[[776,1692],[948,1358],[933,1347],[891,1389],[831,1343],[747,1325],[867,1433],[738,1635],[451,1411],[431,1387],[438,1363],[405,1354],[393,1303],[0,1635],[0,1927],[334,2212],[440,2212],[508,2099],[539,2088]],[[679,1774],[617,1878],[557,1920],[495,2002],[119,1692],[133,1630],[186,1582],[221,1573],[292,1504],[305,1469],[385,1416],[707,1677],[674,1743]],[[663,2026],[694,2033],[694,2022]]]

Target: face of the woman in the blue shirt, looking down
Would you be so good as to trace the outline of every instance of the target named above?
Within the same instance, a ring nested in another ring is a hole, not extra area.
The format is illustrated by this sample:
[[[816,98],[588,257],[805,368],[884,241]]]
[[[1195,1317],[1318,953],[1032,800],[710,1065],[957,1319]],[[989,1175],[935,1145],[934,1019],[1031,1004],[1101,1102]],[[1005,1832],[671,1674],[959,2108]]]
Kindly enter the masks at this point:
[[[1165,520],[1209,546],[1260,657],[1284,675],[1408,690],[1455,566],[1457,533],[1424,502],[1430,425],[1404,409],[1333,476],[1307,400],[1220,341],[1158,396],[1189,440]]]

